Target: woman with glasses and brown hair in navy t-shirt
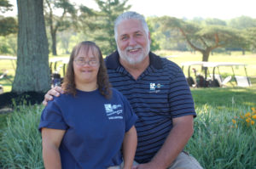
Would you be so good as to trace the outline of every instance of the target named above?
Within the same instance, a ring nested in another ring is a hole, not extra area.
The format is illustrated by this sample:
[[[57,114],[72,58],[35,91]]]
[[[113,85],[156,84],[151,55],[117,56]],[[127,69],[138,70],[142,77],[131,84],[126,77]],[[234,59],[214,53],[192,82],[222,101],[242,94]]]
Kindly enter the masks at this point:
[[[62,87],[65,94],[49,102],[39,124],[45,168],[120,168],[124,159],[123,168],[131,169],[137,115],[110,88],[96,43],[73,48]]]

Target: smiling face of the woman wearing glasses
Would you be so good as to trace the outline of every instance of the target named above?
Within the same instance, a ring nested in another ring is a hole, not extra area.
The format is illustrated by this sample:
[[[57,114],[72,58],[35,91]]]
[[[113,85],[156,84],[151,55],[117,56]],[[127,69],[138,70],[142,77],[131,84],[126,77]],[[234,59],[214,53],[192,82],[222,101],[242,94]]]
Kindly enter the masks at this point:
[[[76,85],[84,85],[97,82],[97,74],[100,67],[99,57],[93,48],[81,48],[79,54],[74,57],[73,70]]]

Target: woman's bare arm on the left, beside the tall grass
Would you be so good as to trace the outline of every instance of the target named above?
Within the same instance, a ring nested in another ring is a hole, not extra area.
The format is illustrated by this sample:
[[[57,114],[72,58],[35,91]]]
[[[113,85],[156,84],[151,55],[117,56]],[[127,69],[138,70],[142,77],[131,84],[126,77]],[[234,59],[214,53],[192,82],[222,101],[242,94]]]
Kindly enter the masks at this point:
[[[61,169],[59,147],[65,130],[42,128],[43,159],[45,169]]]

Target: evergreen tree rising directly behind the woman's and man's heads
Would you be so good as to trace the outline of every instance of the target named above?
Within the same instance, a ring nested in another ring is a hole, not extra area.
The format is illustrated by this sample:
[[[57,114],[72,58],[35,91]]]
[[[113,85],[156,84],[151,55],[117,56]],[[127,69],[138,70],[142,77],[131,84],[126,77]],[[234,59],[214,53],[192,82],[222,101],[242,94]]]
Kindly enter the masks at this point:
[[[81,16],[84,18],[84,14],[90,15],[94,18],[94,23],[84,21],[84,31],[88,31],[90,26],[90,37],[102,48],[102,54],[110,54],[116,49],[116,43],[114,40],[113,25],[114,20],[122,14],[125,10],[131,8],[131,5],[126,6],[128,0],[95,0],[100,11],[93,11],[90,8],[84,8]],[[80,18],[81,18],[80,16]],[[88,35],[88,33],[87,33]]]

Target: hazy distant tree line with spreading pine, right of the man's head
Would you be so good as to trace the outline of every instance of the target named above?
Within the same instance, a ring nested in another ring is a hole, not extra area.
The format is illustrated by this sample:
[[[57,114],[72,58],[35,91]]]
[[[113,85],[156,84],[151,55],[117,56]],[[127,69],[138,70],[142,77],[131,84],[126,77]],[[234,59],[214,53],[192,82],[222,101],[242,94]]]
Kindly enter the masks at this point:
[[[212,52],[240,50],[256,52],[256,19],[241,16],[232,20],[148,18],[161,49],[195,50],[207,61]]]

